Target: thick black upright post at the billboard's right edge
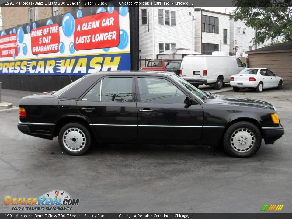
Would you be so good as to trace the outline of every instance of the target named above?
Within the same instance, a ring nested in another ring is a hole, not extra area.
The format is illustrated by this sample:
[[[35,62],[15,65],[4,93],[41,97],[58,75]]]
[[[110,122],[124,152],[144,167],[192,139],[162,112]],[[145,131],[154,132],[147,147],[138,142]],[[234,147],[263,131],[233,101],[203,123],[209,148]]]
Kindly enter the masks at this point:
[[[129,7],[131,70],[139,69],[139,7]]]

